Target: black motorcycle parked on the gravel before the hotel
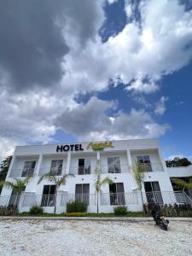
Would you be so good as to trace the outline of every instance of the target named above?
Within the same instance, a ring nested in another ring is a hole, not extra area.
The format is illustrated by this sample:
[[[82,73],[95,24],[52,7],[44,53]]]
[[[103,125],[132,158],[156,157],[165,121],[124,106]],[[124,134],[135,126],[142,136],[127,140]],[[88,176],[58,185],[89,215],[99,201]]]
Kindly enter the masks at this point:
[[[149,204],[148,209],[154,218],[155,224],[160,226],[162,230],[168,230],[169,220],[164,217],[163,212],[160,212],[160,206],[156,204]]]

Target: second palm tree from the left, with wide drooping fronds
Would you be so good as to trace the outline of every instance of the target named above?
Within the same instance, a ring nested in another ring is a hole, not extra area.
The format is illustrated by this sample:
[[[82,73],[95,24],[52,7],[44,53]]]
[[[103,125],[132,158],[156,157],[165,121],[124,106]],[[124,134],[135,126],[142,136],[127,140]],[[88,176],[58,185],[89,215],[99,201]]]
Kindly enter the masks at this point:
[[[48,172],[45,173],[42,177],[39,178],[38,184],[41,183],[43,180],[47,180],[51,183],[55,184],[55,207],[54,207],[54,213],[56,212],[56,197],[58,190],[61,185],[65,185],[67,183],[67,177],[74,177],[73,174],[65,174],[61,177],[56,177],[55,172]]]

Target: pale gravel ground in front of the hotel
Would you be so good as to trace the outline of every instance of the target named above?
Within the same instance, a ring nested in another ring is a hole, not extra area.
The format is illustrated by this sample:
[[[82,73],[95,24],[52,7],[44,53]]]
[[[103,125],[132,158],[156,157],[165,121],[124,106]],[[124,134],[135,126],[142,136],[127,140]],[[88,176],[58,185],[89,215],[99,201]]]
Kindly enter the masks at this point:
[[[2,220],[0,255],[192,255],[192,223]]]

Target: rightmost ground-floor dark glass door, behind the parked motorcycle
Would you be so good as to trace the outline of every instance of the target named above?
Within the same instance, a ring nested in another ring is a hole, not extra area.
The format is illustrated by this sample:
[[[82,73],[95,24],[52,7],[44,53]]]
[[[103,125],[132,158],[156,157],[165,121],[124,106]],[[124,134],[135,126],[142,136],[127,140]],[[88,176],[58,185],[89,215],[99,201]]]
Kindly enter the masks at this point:
[[[145,182],[144,188],[148,203],[163,204],[159,182]]]

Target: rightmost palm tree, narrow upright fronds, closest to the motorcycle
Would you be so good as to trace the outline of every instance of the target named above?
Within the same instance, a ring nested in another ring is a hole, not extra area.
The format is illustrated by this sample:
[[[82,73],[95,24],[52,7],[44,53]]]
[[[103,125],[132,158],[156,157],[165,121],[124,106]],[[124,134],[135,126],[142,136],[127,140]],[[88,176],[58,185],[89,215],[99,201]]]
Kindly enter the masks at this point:
[[[133,176],[135,177],[137,187],[141,193],[142,205],[144,204],[142,187],[143,187],[143,180],[144,180],[144,172],[146,170],[145,166],[143,166],[143,165],[144,164],[141,164],[140,162],[136,161],[135,166],[132,167]]]

